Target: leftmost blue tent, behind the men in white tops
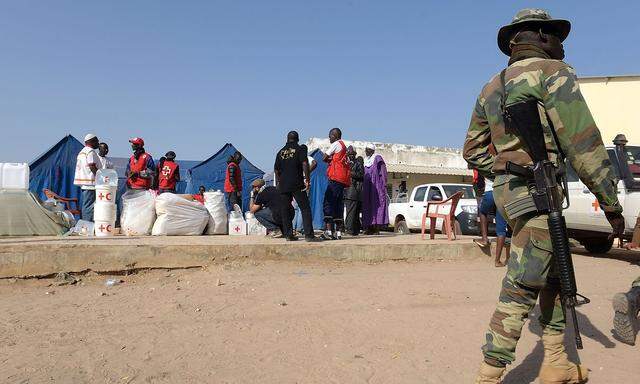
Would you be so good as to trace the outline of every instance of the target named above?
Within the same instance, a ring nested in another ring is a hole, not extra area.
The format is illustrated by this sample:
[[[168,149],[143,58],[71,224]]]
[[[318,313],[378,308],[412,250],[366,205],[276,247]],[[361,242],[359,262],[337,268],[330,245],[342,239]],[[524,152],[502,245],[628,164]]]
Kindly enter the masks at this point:
[[[84,145],[71,135],[65,136],[29,164],[29,190],[45,199],[47,188],[62,197],[80,198],[80,187],[73,185],[76,158]]]

